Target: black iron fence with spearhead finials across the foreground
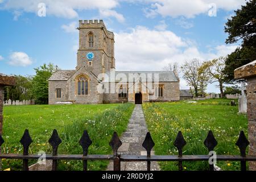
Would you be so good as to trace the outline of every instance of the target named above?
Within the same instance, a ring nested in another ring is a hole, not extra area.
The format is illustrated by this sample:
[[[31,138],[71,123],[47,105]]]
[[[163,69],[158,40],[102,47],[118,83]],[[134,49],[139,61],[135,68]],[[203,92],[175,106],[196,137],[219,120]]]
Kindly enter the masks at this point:
[[[5,142],[0,135],[0,147]],[[150,133],[147,133],[146,138],[142,146],[147,151],[147,156],[142,155],[119,155],[118,148],[122,145],[117,133],[114,132],[109,145],[112,147],[113,155],[88,155],[88,148],[92,144],[92,140],[87,131],[84,131],[79,143],[82,147],[82,155],[58,155],[57,149],[61,143],[61,139],[56,130],[53,130],[52,136],[49,139],[49,144],[52,146],[52,155],[46,155],[46,160],[52,160],[52,170],[57,170],[58,160],[82,160],[84,171],[87,171],[88,160],[113,160],[114,171],[121,170],[121,162],[147,162],[147,170],[150,171],[150,164],[152,161],[172,161],[178,162],[179,170],[183,170],[183,162],[195,162],[195,161],[208,161],[212,156],[210,155],[183,155],[182,149],[187,143],[183,138],[181,131],[177,134],[174,142],[174,146],[179,151],[179,155],[151,155],[151,150],[155,146],[154,141],[151,138]],[[23,160],[23,171],[28,171],[28,160],[38,160],[41,156],[28,154],[28,147],[32,143],[32,139],[28,130],[24,131],[20,143],[23,146],[23,154],[0,154],[0,159],[21,159]],[[204,145],[209,151],[213,151],[217,146],[217,140],[214,138],[212,131],[209,131],[207,138],[204,141]],[[249,145],[249,141],[246,139],[245,134],[241,131],[240,136],[236,142],[236,145],[240,148],[241,155],[216,155],[216,160],[222,161],[240,161],[241,170],[246,171],[247,161],[256,161],[256,156],[246,155],[246,148]],[[210,171],[214,170],[213,164],[209,164]]]

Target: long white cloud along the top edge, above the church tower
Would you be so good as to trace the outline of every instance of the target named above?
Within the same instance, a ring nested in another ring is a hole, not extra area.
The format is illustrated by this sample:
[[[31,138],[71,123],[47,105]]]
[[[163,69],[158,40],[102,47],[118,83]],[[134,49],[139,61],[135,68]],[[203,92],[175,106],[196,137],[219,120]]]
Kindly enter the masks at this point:
[[[0,0],[1,1],[1,0]],[[3,2],[3,9],[6,10],[19,10],[27,13],[38,14],[38,4],[42,3],[41,0],[6,0]],[[98,9],[100,11],[112,14],[119,20],[122,19],[122,15],[116,13],[112,9],[118,6],[118,0],[44,0],[46,3],[46,15],[53,15],[61,18],[78,18],[79,14],[77,10],[92,10]],[[110,11],[110,12],[108,12]],[[109,16],[109,15],[108,15]]]

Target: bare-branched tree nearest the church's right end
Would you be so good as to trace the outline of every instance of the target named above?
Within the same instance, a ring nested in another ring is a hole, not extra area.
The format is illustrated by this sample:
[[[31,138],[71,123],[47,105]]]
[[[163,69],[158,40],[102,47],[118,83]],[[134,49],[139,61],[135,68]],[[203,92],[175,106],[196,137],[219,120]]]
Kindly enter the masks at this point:
[[[204,94],[208,81],[207,77],[205,77],[205,72],[199,70],[201,65],[200,60],[193,59],[186,61],[180,68],[181,72],[183,72],[184,80],[192,87],[192,91],[196,97],[198,97],[199,94]]]

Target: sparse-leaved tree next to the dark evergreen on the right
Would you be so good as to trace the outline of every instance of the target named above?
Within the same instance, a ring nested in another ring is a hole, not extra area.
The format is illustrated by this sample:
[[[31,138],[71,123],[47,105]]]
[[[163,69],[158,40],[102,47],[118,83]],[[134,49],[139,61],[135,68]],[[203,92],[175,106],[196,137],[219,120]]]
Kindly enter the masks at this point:
[[[225,61],[226,57],[219,57],[218,59],[206,61],[200,68],[201,72],[207,73],[210,84],[218,82],[221,98],[224,97],[223,84],[225,82],[225,74],[223,71],[225,68]]]

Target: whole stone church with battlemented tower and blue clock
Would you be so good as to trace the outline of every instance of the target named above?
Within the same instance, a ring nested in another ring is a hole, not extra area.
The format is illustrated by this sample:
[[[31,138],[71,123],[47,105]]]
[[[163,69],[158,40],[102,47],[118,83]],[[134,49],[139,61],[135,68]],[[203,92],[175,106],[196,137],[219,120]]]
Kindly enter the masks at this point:
[[[102,20],[80,20],[77,29],[76,69],[59,70],[49,78],[49,104],[180,100],[176,72],[115,71],[114,34]]]

